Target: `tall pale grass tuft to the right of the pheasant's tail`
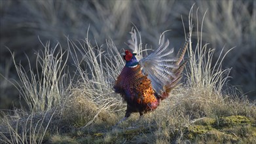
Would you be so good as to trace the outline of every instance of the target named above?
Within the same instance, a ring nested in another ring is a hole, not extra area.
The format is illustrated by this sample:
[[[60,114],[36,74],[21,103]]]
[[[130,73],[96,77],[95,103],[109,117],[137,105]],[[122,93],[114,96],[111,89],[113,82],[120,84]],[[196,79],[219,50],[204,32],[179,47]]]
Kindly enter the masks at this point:
[[[192,7],[193,8],[193,7]],[[198,14],[198,10],[196,10],[196,14]],[[189,27],[191,29],[193,22],[193,9],[189,12]],[[206,15],[206,12],[204,16]],[[192,42],[190,41],[190,46],[188,49],[189,54],[189,68],[187,71],[188,84],[193,87],[202,87],[207,90],[214,90],[218,94],[221,94],[223,90],[223,85],[226,84],[229,79],[230,69],[222,69],[221,65],[223,63],[223,59],[225,56],[234,48],[230,48],[227,52],[225,52],[224,56],[223,50],[219,54],[219,58],[217,61],[213,63],[213,55],[215,49],[208,48],[208,44],[203,44],[202,42],[202,31],[204,24],[204,16],[202,18],[202,24],[196,24],[196,40],[193,41],[193,44],[196,45],[194,50],[192,49]],[[198,16],[196,15],[196,22],[198,22]]]

